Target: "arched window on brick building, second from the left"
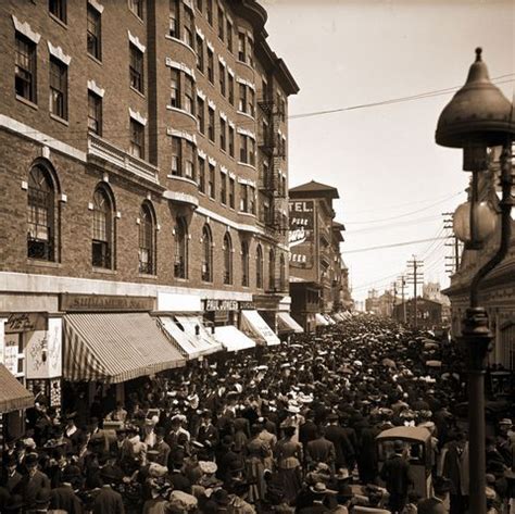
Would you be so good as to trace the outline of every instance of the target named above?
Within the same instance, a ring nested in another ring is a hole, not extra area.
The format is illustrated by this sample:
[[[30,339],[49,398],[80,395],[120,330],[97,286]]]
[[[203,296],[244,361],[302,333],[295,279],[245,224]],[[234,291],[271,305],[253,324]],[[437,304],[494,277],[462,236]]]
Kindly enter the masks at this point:
[[[113,267],[113,202],[105,188],[100,186],[93,195],[91,264],[96,267]]]

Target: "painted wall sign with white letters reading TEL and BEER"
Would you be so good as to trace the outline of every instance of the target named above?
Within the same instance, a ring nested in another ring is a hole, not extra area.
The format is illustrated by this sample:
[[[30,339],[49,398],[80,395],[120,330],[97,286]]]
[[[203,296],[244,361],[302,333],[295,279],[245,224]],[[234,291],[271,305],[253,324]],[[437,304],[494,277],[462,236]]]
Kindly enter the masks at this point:
[[[290,267],[313,267],[314,202],[291,201],[290,210]]]

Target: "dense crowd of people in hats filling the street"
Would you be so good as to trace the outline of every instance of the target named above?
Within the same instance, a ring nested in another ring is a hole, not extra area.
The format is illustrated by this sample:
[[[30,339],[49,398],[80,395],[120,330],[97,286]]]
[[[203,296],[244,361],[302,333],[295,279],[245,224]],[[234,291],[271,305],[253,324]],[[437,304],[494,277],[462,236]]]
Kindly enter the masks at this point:
[[[58,415],[38,394],[4,441],[0,512],[466,513],[463,361],[428,337],[356,315],[149,377],[115,405],[78,396]],[[405,442],[378,452],[394,426],[430,436],[427,498]],[[504,418],[487,439],[489,513],[515,512],[514,430]]]

